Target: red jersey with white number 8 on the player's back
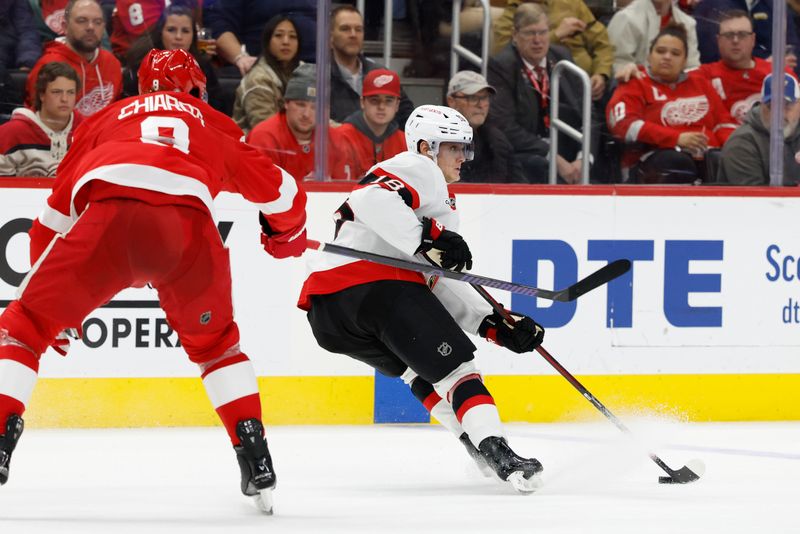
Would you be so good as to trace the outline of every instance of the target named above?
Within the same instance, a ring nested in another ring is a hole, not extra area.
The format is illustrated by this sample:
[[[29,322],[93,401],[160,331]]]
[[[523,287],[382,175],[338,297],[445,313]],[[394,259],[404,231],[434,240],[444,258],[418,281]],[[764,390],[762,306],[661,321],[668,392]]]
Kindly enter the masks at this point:
[[[31,229],[31,262],[54,233],[69,230],[98,191],[151,203],[166,198],[212,216],[220,191],[239,193],[275,233],[298,233],[305,226],[305,192],[242,138],[230,117],[186,93],[150,93],[107,107],[78,128],[58,167]]]

